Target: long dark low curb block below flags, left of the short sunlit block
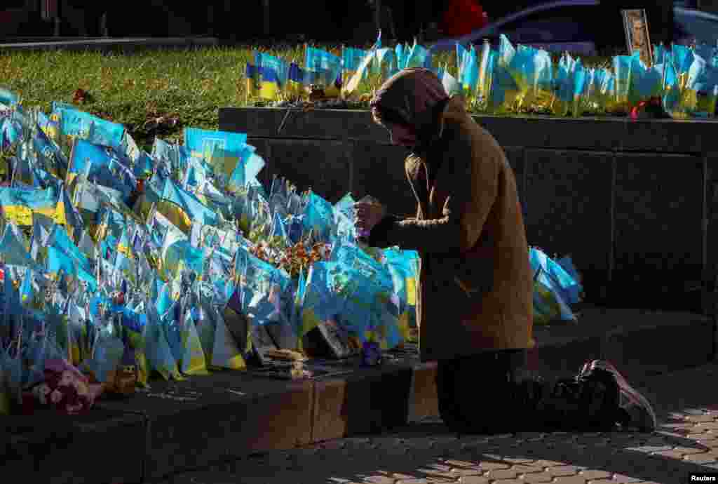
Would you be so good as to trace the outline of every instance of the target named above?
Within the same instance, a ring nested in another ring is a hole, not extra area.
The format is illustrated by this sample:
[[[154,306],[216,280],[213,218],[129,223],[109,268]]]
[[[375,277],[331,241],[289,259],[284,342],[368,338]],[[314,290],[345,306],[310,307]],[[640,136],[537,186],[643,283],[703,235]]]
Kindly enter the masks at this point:
[[[154,479],[215,460],[309,444],[312,385],[218,371],[153,382],[149,393],[99,406],[146,416],[146,478]]]

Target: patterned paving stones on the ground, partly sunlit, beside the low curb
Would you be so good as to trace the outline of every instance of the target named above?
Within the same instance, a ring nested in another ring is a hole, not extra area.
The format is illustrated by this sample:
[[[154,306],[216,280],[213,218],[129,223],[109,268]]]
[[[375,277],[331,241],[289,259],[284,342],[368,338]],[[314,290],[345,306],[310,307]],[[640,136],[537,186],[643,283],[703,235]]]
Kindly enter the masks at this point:
[[[689,483],[691,473],[718,473],[717,378],[715,364],[648,378],[643,388],[661,422],[653,434],[457,436],[429,419],[155,484]]]

